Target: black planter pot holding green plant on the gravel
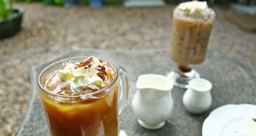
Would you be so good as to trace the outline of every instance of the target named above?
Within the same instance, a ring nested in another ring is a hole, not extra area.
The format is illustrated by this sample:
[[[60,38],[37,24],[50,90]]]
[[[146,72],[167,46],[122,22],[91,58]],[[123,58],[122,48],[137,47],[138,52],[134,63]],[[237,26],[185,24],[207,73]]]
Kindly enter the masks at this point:
[[[23,8],[13,8],[12,18],[0,20],[0,38],[10,37],[20,30],[23,13]]]

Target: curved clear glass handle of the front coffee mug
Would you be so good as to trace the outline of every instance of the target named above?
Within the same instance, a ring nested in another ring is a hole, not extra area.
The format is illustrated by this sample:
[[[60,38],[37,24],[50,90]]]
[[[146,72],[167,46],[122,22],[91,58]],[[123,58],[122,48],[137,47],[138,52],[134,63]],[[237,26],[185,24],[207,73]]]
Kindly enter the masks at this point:
[[[123,111],[128,100],[128,76],[123,67],[116,66],[118,71],[118,115]]]

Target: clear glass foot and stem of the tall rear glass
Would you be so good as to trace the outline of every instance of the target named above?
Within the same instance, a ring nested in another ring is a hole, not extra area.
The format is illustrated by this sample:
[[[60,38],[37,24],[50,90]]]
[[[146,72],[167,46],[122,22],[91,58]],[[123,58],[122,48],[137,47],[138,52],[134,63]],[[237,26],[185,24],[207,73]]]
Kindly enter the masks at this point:
[[[167,73],[166,77],[172,78],[173,72],[176,73],[176,82],[174,83],[174,85],[183,89],[189,88],[188,82],[191,79],[200,78],[199,73],[193,68],[188,72],[183,72],[177,68],[174,68]]]

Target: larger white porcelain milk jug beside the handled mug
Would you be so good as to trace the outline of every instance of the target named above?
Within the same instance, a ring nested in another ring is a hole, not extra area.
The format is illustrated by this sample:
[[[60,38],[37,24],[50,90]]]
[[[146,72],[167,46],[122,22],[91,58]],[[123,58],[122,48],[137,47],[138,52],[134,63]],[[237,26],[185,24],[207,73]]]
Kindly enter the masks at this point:
[[[174,73],[171,80],[158,74],[139,76],[131,106],[142,127],[159,129],[170,117],[173,108],[171,90],[175,80]]]

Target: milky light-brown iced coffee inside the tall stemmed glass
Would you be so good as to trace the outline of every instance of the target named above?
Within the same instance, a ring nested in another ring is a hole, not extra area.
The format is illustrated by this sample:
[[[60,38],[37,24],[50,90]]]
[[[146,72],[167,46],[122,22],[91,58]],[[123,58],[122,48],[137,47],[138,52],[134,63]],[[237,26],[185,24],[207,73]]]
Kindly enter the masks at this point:
[[[175,8],[170,57],[179,66],[190,67],[204,61],[214,16],[189,15]]]

